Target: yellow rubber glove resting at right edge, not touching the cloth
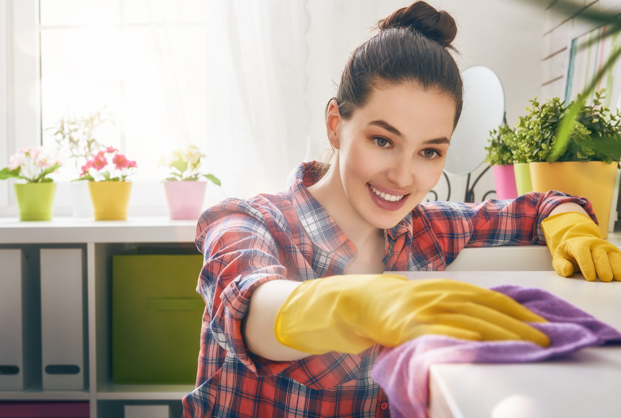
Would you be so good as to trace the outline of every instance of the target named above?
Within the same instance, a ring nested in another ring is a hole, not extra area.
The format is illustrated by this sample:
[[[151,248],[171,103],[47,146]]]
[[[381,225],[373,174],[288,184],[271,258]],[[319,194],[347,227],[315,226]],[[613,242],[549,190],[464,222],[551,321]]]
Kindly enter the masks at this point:
[[[599,227],[580,212],[561,212],[542,221],[556,273],[568,277],[579,268],[588,281],[621,281],[621,251],[602,240]]]

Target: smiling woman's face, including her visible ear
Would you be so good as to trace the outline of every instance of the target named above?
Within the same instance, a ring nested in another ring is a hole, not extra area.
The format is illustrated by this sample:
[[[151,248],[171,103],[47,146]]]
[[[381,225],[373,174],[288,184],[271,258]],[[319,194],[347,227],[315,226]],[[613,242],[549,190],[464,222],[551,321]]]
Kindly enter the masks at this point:
[[[327,124],[330,142],[338,148],[345,195],[366,222],[390,229],[438,183],[453,134],[455,102],[397,84],[374,88],[350,119],[337,114],[332,106]]]

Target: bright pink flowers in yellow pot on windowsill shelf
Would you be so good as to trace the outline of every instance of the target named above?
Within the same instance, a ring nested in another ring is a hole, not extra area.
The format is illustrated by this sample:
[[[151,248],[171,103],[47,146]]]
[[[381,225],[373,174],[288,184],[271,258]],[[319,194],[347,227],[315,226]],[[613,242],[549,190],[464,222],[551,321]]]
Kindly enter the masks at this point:
[[[95,220],[127,219],[132,183],[126,178],[136,167],[136,161],[128,160],[114,147],[107,147],[86,160],[77,180],[88,181]]]

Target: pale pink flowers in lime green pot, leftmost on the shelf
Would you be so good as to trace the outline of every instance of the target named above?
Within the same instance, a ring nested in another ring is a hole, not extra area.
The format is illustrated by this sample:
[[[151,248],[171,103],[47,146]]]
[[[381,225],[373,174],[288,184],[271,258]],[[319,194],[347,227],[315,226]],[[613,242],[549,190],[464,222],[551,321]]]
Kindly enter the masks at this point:
[[[51,220],[56,196],[56,183],[48,175],[61,166],[40,147],[22,147],[9,160],[9,166],[0,170],[0,179],[17,178],[15,196],[19,206],[19,220]]]

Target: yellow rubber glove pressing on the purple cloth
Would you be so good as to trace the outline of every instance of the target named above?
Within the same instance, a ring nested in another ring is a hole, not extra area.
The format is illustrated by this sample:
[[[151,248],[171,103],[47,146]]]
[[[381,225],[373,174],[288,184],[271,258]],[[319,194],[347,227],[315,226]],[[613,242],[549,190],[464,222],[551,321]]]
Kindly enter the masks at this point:
[[[423,334],[469,340],[530,340],[545,334],[523,321],[545,322],[502,293],[450,279],[345,275],[305,281],[276,314],[279,342],[302,352],[360,353],[396,347]]]

